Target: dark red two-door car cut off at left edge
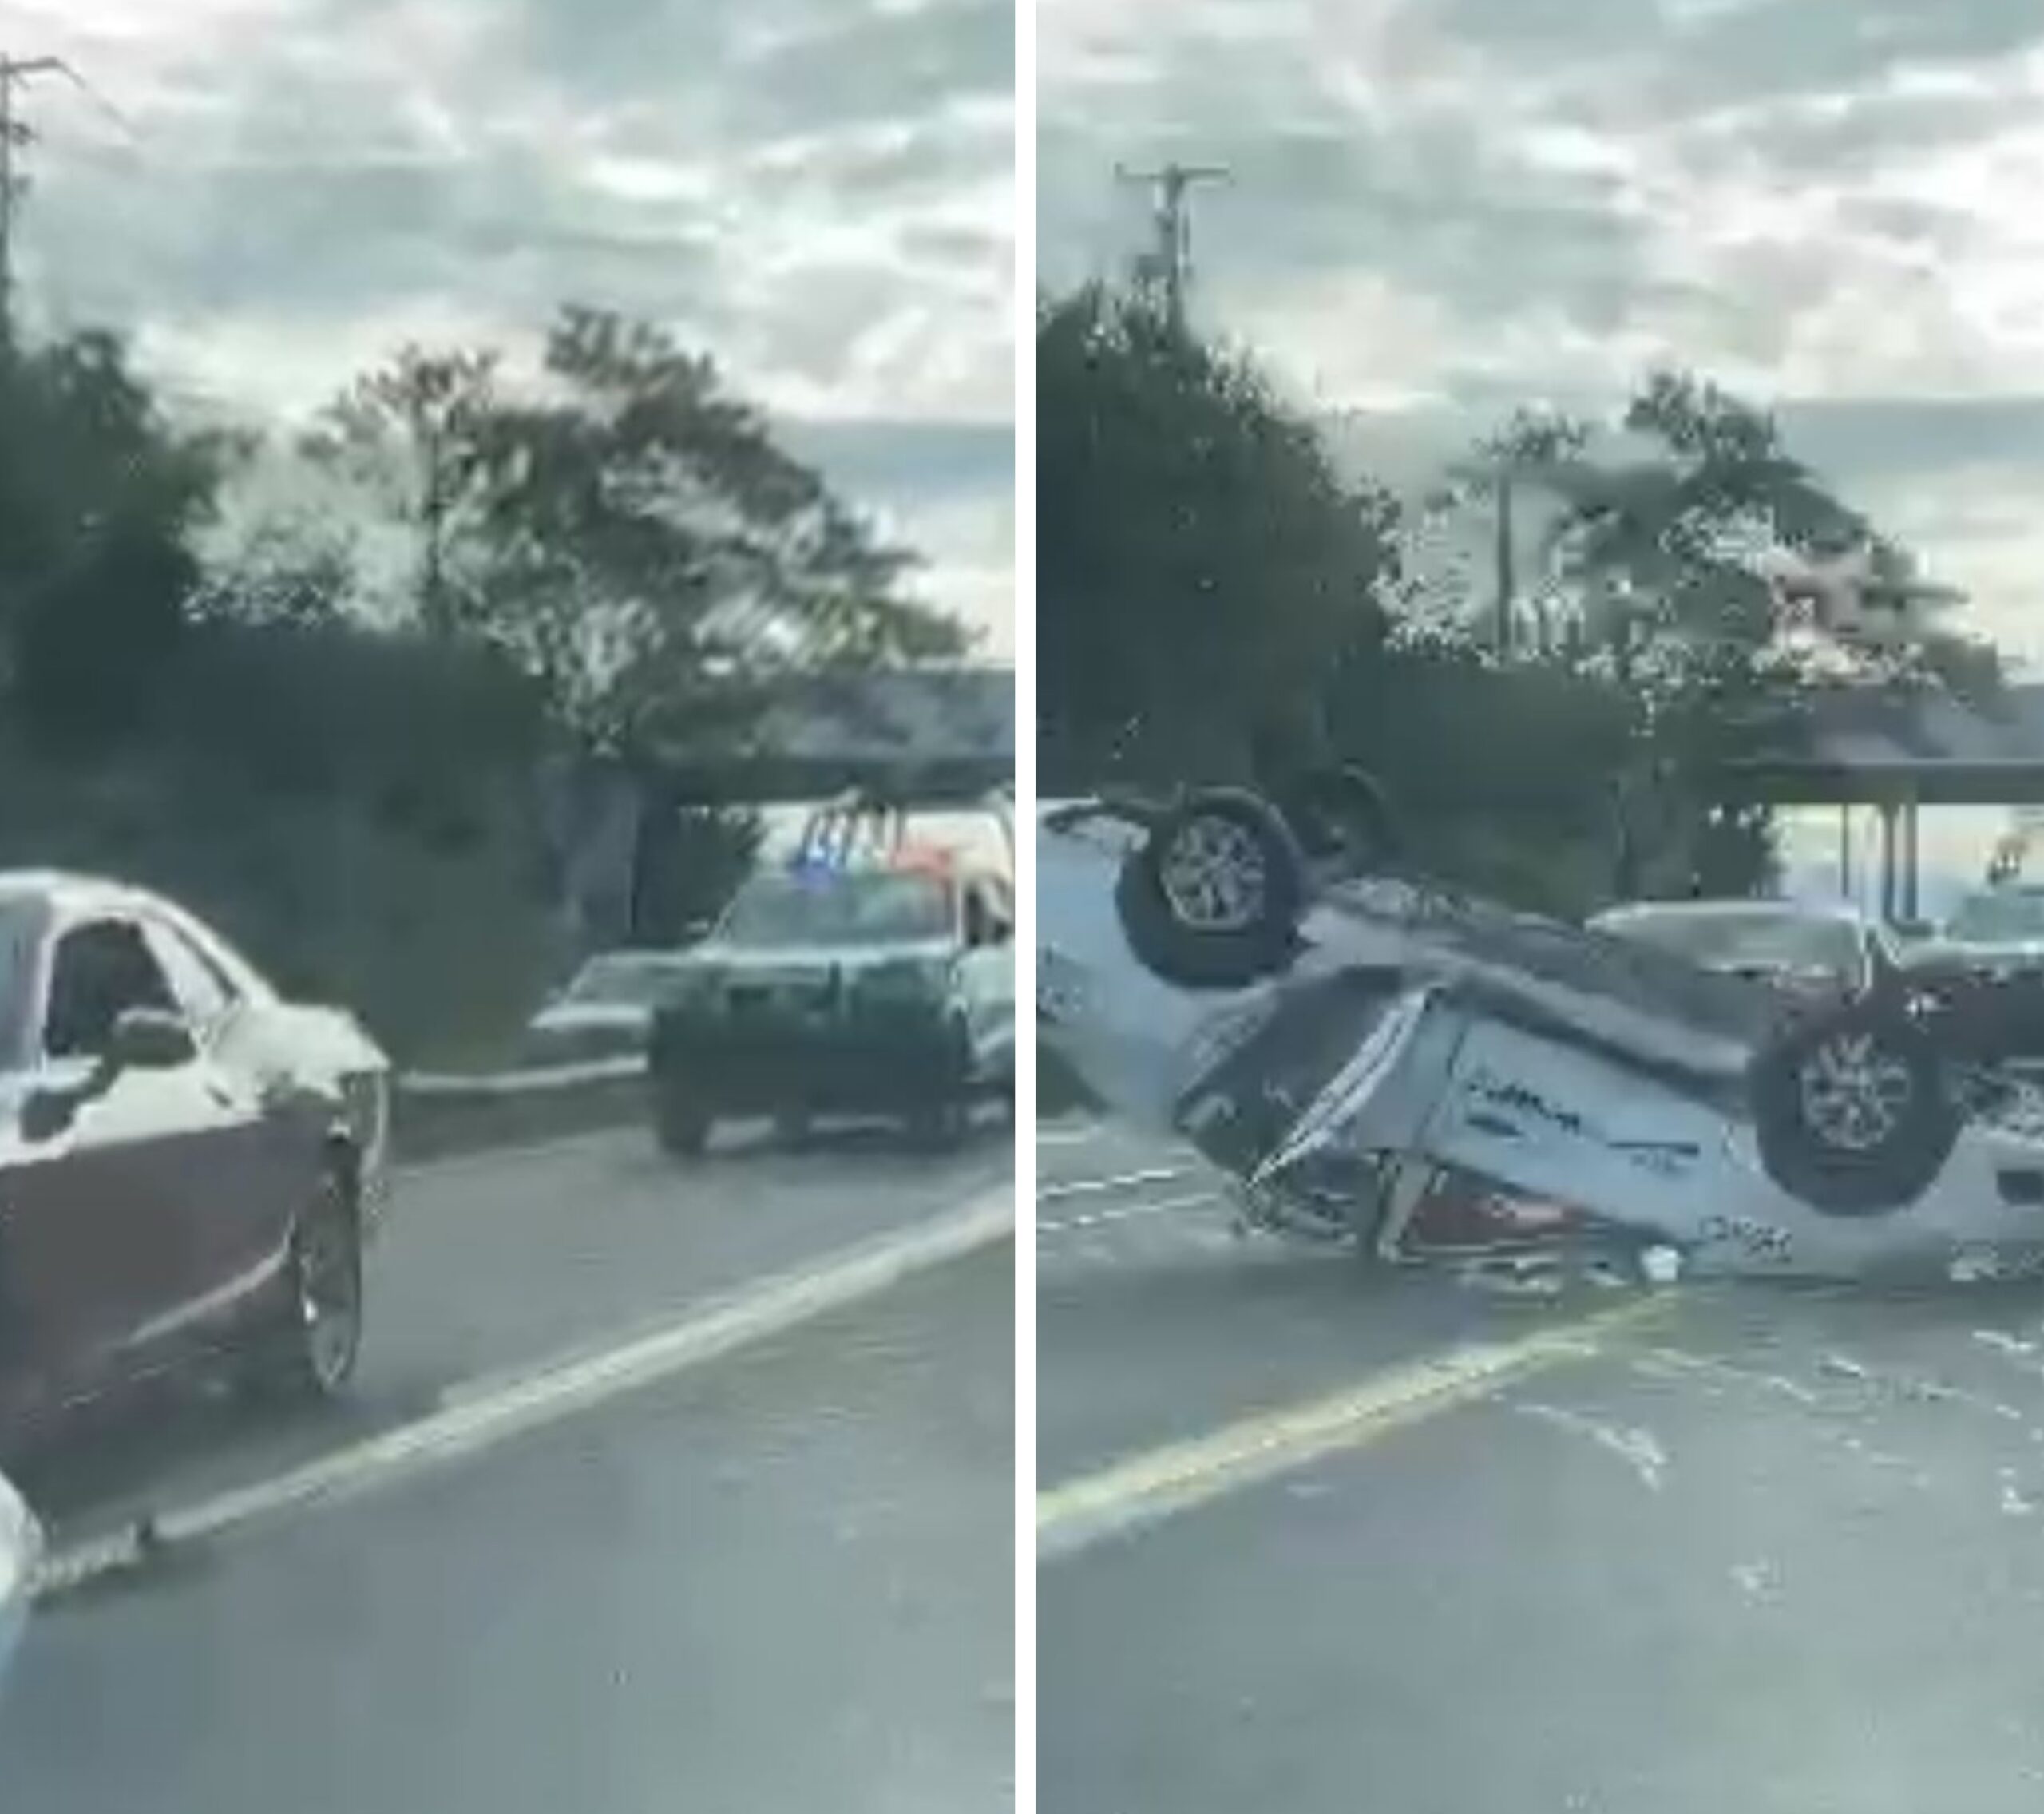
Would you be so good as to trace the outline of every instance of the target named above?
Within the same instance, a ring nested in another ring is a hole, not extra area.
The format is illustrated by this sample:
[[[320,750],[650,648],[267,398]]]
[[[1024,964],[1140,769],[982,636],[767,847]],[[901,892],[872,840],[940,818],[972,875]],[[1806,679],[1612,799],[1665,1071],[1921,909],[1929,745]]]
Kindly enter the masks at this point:
[[[339,1391],[390,1064],[141,889],[0,872],[0,1436],[231,1360]]]

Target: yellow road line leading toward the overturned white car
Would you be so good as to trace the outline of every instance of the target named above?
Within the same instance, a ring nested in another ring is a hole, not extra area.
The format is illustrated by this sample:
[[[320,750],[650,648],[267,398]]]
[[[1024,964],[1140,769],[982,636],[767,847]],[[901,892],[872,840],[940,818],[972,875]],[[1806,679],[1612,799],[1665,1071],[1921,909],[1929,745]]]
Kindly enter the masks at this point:
[[[1339,1450],[1361,1448],[1549,1367],[1584,1360],[1598,1352],[1600,1338],[1666,1303],[1658,1295],[1639,1297],[1517,1342],[1453,1348],[1331,1397],[1245,1418],[1051,1487],[1036,1495],[1036,1561],[1063,1561],[1106,1536],[1190,1512]]]

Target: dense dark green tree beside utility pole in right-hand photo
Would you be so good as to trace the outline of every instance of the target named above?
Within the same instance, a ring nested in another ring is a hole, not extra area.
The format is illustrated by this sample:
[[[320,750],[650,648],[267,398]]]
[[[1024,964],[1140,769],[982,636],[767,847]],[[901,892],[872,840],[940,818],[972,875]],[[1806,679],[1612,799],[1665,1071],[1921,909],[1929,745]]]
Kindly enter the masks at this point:
[[[1228,774],[1310,750],[1386,631],[1396,507],[1335,472],[1245,357],[1102,290],[1036,321],[1047,774]]]

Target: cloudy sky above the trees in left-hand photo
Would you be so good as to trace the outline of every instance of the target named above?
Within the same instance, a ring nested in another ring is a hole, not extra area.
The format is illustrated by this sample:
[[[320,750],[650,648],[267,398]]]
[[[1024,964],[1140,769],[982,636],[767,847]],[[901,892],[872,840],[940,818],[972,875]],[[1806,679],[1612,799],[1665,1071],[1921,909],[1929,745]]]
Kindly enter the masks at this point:
[[[22,311],[300,413],[617,306],[719,357],[1012,648],[1012,0],[0,0]]]

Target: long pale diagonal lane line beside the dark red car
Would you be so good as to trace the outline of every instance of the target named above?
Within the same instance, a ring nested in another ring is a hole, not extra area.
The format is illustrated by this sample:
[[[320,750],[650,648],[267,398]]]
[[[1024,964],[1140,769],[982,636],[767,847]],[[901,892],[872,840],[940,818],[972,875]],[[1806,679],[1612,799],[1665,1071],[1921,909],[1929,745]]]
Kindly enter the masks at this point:
[[[145,1563],[153,1553],[217,1538],[280,1512],[335,1503],[444,1467],[513,1436],[595,1410],[623,1393],[675,1379],[738,1348],[844,1309],[867,1297],[1014,1236],[1014,1189],[989,1191],[916,1228],[861,1242],[836,1256],[691,1309],[675,1324],[613,1348],[576,1354],[507,1379],[486,1395],[384,1430],[268,1481],[157,1514],[137,1530],[49,1557],[35,1597],[74,1591]]]

